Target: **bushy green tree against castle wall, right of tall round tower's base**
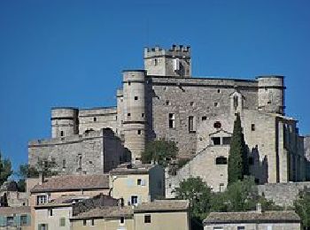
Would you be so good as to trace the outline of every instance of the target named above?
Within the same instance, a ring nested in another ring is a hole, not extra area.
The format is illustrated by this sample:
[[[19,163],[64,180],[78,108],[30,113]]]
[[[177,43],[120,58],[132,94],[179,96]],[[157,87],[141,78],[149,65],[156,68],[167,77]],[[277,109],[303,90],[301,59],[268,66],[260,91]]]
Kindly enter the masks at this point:
[[[142,153],[142,162],[151,163],[154,161],[159,165],[167,166],[172,158],[175,158],[178,153],[178,148],[175,142],[166,140],[155,140],[148,142]]]

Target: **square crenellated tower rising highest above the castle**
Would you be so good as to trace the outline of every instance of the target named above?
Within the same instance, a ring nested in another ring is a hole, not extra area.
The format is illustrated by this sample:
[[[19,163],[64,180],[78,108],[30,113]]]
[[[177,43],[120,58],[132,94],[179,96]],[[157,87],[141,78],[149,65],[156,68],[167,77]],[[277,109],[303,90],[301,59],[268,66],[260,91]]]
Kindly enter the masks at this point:
[[[148,75],[188,78],[190,68],[190,46],[173,45],[169,50],[158,46],[144,49],[144,69]]]

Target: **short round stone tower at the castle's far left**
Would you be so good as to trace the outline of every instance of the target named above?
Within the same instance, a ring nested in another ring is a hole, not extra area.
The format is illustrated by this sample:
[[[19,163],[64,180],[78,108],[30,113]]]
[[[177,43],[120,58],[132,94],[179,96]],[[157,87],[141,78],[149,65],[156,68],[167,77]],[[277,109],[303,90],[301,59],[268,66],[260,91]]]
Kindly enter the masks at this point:
[[[79,134],[79,110],[72,107],[51,109],[51,137],[63,137]]]

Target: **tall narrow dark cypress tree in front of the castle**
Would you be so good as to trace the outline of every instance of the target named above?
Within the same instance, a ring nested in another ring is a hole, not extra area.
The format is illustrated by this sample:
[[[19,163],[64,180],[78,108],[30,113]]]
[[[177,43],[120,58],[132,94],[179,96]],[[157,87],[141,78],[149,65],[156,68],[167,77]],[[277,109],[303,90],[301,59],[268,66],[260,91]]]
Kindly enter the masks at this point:
[[[249,174],[247,164],[247,149],[244,142],[240,115],[236,114],[234,132],[230,142],[229,164],[228,164],[229,184],[237,180],[243,180],[244,175]]]

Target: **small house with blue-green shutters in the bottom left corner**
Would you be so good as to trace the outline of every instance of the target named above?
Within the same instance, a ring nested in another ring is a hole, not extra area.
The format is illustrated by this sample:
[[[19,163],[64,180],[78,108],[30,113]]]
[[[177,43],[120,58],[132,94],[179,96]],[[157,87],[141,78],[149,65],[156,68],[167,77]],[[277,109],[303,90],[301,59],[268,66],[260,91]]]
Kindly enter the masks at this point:
[[[0,207],[0,230],[31,230],[30,207]]]

